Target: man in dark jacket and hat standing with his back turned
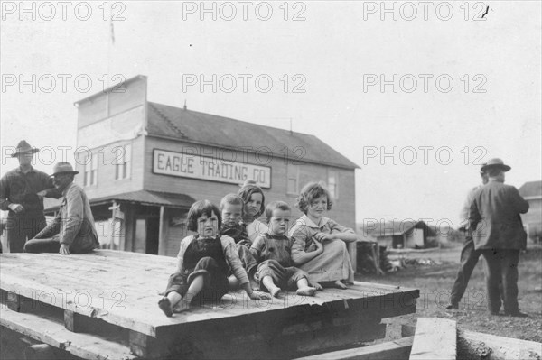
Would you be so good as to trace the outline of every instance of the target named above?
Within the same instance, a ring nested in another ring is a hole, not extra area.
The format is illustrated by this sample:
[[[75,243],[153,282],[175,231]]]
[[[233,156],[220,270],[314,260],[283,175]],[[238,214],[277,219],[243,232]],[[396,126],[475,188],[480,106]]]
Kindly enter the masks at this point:
[[[527,234],[519,214],[528,211],[528,202],[518,189],[504,184],[504,173],[510,169],[497,158],[481,167],[489,182],[472,198],[469,223],[474,246],[485,259],[488,309],[499,315],[502,296],[505,315],[525,318],[527,314],[519,311],[518,305],[518,263],[519,250],[527,246]]]

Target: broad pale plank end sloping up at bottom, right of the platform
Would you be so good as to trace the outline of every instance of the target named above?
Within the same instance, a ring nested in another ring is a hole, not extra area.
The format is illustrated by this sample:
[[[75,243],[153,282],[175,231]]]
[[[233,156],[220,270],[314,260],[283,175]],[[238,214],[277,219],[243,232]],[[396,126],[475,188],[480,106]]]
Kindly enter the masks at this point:
[[[457,328],[447,318],[418,318],[410,360],[455,359]]]

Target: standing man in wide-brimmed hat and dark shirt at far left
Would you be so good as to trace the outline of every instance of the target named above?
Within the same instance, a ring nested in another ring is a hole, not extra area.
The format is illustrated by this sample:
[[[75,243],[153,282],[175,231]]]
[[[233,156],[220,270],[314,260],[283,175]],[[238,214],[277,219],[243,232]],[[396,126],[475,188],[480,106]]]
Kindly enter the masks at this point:
[[[11,253],[23,253],[27,239],[45,227],[43,197],[60,198],[51,178],[32,166],[33,154],[39,152],[22,140],[11,155],[19,167],[0,179],[0,209],[9,211],[6,221],[7,241]]]

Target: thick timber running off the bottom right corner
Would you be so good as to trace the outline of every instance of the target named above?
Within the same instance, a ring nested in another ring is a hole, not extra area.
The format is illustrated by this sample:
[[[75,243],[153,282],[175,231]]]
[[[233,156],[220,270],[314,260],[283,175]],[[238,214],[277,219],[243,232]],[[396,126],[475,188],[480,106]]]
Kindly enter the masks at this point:
[[[528,360],[542,358],[542,343],[498,337],[474,331],[459,331],[458,357],[487,360]]]

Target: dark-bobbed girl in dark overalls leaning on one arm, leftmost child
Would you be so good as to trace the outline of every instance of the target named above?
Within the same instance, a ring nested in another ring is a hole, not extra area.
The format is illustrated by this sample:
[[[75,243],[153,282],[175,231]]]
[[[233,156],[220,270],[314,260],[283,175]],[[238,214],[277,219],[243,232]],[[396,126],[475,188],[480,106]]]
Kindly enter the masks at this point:
[[[269,299],[265,293],[250,289],[233,239],[219,234],[220,225],[219,209],[210,201],[196,201],[190,208],[188,229],[198,234],[182,239],[177,272],[170,277],[164,298],[158,301],[166,316],[189,309],[195,300],[219,300],[229,291],[229,269],[250,299]]]

